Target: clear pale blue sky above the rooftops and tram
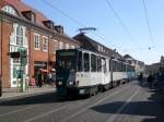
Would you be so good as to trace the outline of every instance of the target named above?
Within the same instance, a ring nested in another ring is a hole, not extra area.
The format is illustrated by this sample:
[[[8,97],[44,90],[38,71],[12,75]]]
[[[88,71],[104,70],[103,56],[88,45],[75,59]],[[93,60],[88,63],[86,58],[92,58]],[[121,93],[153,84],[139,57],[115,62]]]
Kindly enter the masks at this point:
[[[148,14],[143,0],[23,1],[62,25],[70,37],[79,34],[79,28],[95,27],[86,35],[120,54],[129,53],[145,64],[159,62],[164,54],[164,0],[144,0]]]

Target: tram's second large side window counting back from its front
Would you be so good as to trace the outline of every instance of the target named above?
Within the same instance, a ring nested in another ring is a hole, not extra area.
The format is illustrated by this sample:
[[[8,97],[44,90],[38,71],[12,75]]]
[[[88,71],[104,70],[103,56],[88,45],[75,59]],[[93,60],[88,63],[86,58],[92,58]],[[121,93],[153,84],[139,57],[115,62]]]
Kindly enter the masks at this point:
[[[96,72],[97,65],[96,65],[96,56],[91,54],[91,72]]]

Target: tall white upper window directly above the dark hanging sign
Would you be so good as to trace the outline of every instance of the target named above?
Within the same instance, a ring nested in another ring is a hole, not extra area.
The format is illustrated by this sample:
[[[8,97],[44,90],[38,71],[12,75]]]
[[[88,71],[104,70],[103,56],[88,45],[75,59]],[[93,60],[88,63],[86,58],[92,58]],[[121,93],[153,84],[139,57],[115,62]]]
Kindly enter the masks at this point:
[[[16,28],[16,45],[23,46],[23,28],[20,25]]]

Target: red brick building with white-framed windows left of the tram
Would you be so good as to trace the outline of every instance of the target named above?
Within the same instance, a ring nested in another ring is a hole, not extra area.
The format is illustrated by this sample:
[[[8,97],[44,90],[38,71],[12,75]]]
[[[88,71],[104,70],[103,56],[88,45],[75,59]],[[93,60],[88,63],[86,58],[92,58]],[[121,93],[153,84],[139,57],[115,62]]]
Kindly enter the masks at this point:
[[[16,87],[20,59],[10,52],[27,51],[25,74],[28,80],[39,70],[54,69],[56,50],[77,48],[78,41],[67,36],[40,12],[21,0],[0,0],[0,74],[2,87]]]

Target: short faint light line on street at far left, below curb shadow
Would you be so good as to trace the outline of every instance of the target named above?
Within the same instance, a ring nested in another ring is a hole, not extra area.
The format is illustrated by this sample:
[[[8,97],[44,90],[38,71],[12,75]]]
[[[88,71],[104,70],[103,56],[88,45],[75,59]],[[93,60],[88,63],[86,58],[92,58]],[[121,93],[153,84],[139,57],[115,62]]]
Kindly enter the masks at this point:
[[[38,105],[36,105],[36,106],[38,106]],[[10,111],[10,112],[7,112],[7,113],[2,113],[2,114],[0,114],[0,117],[4,117],[4,115],[13,114],[13,113],[16,113],[16,112],[21,112],[21,111],[24,111],[24,110],[27,110],[27,109],[32,109],[36,106],[30,106],[30,107],[21,108],[21,109]]]

